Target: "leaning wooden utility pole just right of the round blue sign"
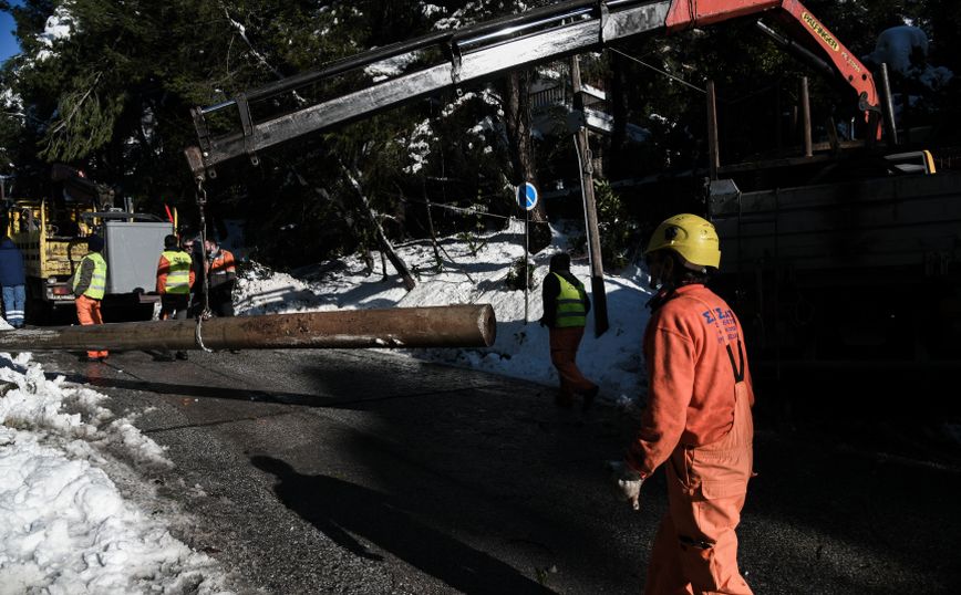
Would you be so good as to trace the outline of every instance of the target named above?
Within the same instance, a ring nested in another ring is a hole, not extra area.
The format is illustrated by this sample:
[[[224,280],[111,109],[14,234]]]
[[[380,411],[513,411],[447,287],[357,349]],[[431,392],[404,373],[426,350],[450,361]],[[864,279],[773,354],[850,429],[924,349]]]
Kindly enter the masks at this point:
[[[581,123],[574,135],[575,149],[580,163],[580,188],[583,195],[583,217],[587,228],[587,244],[590,255],[590,291],[593,295],[595,336],[601,336],[608,328],[608,300],[604,292],[604,268],[600,250],[600,230],[597,221],[597,200],[593,195],[593,166],[591,165],[590,139],[583,122],[583,88],[580,83],[580,63],[577,56],[570,59],[570,80],[574,88],[574,108],[580,112]]]

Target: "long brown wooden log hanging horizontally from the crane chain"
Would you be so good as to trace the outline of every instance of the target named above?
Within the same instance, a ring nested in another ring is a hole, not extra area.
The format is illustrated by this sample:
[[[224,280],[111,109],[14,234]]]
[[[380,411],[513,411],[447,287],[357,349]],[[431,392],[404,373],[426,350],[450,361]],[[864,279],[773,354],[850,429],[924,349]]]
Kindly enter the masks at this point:
[[[489,304],[337,310],[0,332],[0,351],[489,347]]]

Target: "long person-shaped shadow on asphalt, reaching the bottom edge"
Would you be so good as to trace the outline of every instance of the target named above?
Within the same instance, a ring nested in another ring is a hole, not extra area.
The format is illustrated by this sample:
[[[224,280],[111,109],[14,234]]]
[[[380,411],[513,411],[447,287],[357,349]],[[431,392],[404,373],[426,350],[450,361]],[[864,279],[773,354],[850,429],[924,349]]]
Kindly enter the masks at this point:
[[[381,560],[350,533],[463,593],[554,593],[425,525],[395,498],[328,476],[304,476],[271,457],[255,456],[250,461],[277,478],[275,492],[287,508],[358,556]]]

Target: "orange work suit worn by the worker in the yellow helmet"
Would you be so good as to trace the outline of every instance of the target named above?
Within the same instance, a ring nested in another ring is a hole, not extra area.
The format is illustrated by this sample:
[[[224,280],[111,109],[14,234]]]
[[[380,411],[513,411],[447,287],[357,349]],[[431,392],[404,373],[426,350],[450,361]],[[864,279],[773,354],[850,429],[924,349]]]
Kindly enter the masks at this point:
[[[685,285],[651,315],[644,356],[649,403],[627,463],[647,478],[666,462],[669,501],[644,593],[751,594],[734,533],[754,439],[741,324],[711,290]]]

